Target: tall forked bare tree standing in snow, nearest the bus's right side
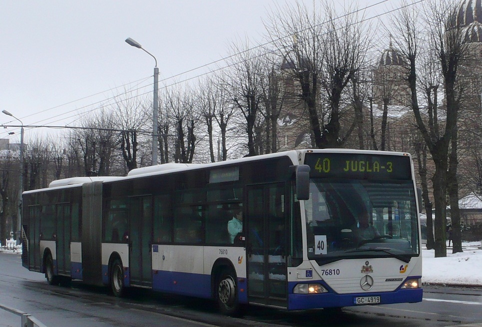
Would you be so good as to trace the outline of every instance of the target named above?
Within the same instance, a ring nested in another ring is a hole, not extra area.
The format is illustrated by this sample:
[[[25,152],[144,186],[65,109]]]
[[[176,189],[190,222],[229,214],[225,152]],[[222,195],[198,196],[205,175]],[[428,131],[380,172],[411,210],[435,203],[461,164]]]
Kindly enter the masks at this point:
[[[419,59],[419,43],[422,31],[418,29],[418,15],[415,10],[415,8],[403,10],[401,15],[395,20],[395,25],[399,28],[399,45],[409,65],[407,80],[411,89],[412,109],[417,125],[435,164],[433,177],[434,201],[437,208],[435,214],[435,256],[446,257],[446,195],[448,188],[449,149],[452,138],[455,137],[454,132],[457,129],[458,111],[462,94],[461,89],[458,87],[458,69],[464,58],[466,46],[460,24],[451,24],[450,21],[455,12],[455,7],[447,1],[443,1],[443,3],[437,2],[436,5],[431,6],[430,10],[428,10],[430,15],[427,15],[429,26],[426,31],[429,35],[429,43],[427,44],[433,46],[432,50],[435,52],[440,64],[447,106],[444,129],[443,126],[440,126],[439,119],[437,119],[438,103],[436,98],[433,97],[437,95],[437,92],[431,90],[427,100],[433,99],[433,101],[432,105],[429,103],[429,124],[427,124],[423,119],[417,93],[417,60]],[[452,204],[453,202],[451,201],[451,206]],[[458,201],[454,205],[458,206]],[[454,228],[457,228],[460,220],[457,217],[455,217],[455,220],[457,226]]]

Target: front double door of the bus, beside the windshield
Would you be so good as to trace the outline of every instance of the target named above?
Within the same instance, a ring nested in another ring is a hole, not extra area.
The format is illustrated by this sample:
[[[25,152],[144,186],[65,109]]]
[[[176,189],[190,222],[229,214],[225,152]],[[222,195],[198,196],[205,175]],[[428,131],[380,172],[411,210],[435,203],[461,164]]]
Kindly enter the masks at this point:
[[[287,306],[285,184],[247,189],[248,301]]]

